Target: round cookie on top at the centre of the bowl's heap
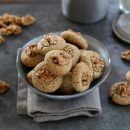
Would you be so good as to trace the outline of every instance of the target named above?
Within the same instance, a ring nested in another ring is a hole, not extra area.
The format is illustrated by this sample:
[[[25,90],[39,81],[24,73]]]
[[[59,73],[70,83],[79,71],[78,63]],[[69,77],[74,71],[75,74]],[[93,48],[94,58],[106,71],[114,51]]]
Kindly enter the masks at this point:
[[[71,56],[61,50],[49,51],[44,61],[47,69],[55,75],[65,75],[72,67]]]

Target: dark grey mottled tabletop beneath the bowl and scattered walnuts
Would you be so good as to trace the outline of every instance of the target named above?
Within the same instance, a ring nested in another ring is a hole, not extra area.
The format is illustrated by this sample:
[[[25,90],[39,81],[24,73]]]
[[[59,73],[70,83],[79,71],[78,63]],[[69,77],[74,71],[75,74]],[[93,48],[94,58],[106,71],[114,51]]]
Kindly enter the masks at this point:
[[[130,63],[122,61],[120,53],[130,45],[119,40],[112,32],[112,20],[118,15],[118,1],[110,0],[106,19],[95,24],[80,25],[62,16],[60,0],[0,0],[0,14],[10,12],[16,15],[27,13],[36,17],[36,24],[24,28],[19,36],[8,36],[0,45],[0,79],[7,81],[11,89],[0,96],[0,130],[130,130],[130,106],[122,107],[108,99],[111,84],[124,80]],[[16,52],[30,39],[53,31],[68,28],[89,34],[102,42],[112,59],[112,69],[107,80],[100,86],[103,113],[100,117],[73,117],[62,121],[34,123],[27,116],[16,113],[17,70]]]

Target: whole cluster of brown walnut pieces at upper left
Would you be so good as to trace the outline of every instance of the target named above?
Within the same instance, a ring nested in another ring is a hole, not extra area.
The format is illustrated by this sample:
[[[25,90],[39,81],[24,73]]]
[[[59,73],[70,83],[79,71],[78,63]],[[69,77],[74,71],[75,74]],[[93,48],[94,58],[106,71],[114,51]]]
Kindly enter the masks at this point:
[[[22,17],[5,13],[0,16],[0,44],[5,42],[5,35],[18,35],[22,33],[22,26],[29,26],[35,22],[31,15]]]

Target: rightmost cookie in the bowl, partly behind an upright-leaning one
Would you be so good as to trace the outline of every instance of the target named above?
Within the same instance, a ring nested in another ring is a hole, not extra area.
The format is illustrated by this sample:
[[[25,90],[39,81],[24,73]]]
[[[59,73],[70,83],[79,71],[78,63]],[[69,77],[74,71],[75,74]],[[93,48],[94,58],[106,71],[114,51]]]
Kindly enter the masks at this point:
[[[103,58],[97,52],[80,50],[80,61],[85,62],[89,69],[93,71],[94,79],[101,77],[105,64]]]

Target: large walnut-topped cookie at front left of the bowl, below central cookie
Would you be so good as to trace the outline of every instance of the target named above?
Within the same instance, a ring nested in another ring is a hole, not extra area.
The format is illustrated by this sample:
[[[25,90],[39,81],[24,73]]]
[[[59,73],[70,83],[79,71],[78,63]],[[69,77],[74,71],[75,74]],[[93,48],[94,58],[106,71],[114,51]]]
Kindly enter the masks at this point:
[[[63,83],[63,76],[53,75],[47,70],[45,62],[39,63],[32,73],[32,84],[44,93],[56,91]]]

